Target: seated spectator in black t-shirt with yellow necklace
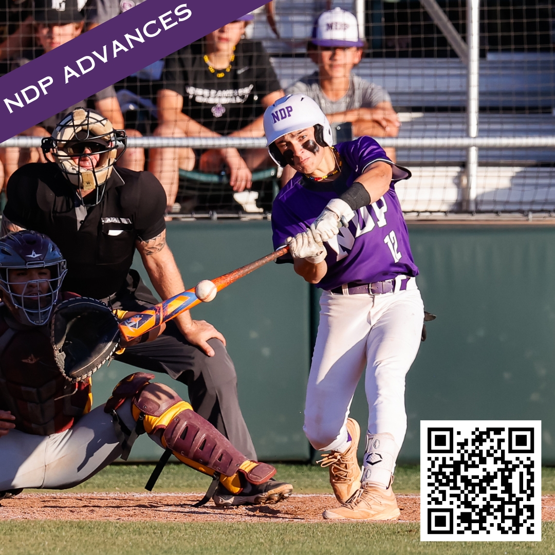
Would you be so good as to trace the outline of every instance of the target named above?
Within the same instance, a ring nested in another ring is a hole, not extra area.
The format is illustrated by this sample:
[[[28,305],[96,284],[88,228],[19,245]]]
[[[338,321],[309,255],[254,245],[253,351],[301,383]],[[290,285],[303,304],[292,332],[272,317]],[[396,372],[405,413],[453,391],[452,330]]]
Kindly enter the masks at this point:
[[[284,95],[260,42],[242,41],[247,15],[216,29],[200,41],[165,59],[163,89],[158,92],[162,137],[263,137],[266,107]],[[199,159],[199,169],[226,169],[235,191],[250,188],[251,171],[270,159],[265,149],[211,149]],[[191,149],[153,149],[149,170],[161,181],[168,208],[175,201],[179,168],[193,169]]]

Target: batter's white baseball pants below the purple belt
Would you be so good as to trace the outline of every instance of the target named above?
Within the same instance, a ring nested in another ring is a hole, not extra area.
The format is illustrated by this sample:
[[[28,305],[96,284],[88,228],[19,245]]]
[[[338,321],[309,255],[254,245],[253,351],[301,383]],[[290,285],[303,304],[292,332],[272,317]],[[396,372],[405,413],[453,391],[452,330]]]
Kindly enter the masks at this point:
[[[345,444],[352,397],[366,367],[368,431],[392,433],[401,447],[407,428],[405,376],[424,320],[416,281],[405,291],[382,295],[324,291],[320,307],[306,390],[306,437],[321,451]]]

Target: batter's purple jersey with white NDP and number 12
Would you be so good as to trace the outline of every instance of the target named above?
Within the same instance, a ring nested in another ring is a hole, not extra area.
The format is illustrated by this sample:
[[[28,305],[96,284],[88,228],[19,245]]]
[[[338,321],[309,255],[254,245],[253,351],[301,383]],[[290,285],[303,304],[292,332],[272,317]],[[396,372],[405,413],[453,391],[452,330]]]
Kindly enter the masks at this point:
[[[355,211],[348,228],[324,243],[327,273],[316,287],[330,290],[343,284],[373,283],[397,275],[416,276],[408,230],[393,183],[410,173],[387,158],[384,149],[370,137],[335,145],[342,160],[341,175],[335,181],[312,181],[300,173],[280,190],[274,200],[272,228],[274,248],[288,237],[302,233],[320,215],[331,199],[340,196],[373,162],[391,164],[393,179],[387,193],[369,206]],[[278,262],[292,262],[287,254]]]

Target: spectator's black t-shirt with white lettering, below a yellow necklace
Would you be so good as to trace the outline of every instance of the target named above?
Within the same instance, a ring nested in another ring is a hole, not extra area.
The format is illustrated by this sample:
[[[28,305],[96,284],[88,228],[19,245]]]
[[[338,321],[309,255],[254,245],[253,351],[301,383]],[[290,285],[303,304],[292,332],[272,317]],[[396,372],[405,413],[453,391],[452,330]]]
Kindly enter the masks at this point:
[[[281,89],[270,58],[258,41],[240,41],[224,77],[210,73],[203,41],[181,48],[165,59],[164,88],[183,97],[183,113],[220,134],[228,134],[264,113],[261,100]],[[220,70],[222,71],[222,70]]]

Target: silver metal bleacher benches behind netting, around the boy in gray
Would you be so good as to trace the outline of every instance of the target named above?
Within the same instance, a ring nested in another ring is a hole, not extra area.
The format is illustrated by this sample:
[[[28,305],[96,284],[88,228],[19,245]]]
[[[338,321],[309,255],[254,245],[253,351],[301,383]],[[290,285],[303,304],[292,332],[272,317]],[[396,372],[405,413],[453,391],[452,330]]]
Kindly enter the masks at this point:
[[[309,58],[273,57],[283,87],[314,72]],[[555,135],[553,54],[490,56],[480,62],[480,106],[507,112],[481,113],[478,136]],[[382,85],[401,110],[399,137],[466,135],[466,66],[454,58],[365,58],[360,77]],[[443,111],[428,111],[440,108]],[[514,113],[510,109],[514,108]],[[418,111],[415,111],[418,110]],[[532,113],[518,113],[528,109]],[[533,113],[543,112],[543,113]],[[378,139],[379,140],[379,139]],[[397,160],[412,179],[397,185],[404,211],[453,211],[461,208],[464,149],[397,149]],[[477,210],[555,209],[553,149],[479,150]]]

